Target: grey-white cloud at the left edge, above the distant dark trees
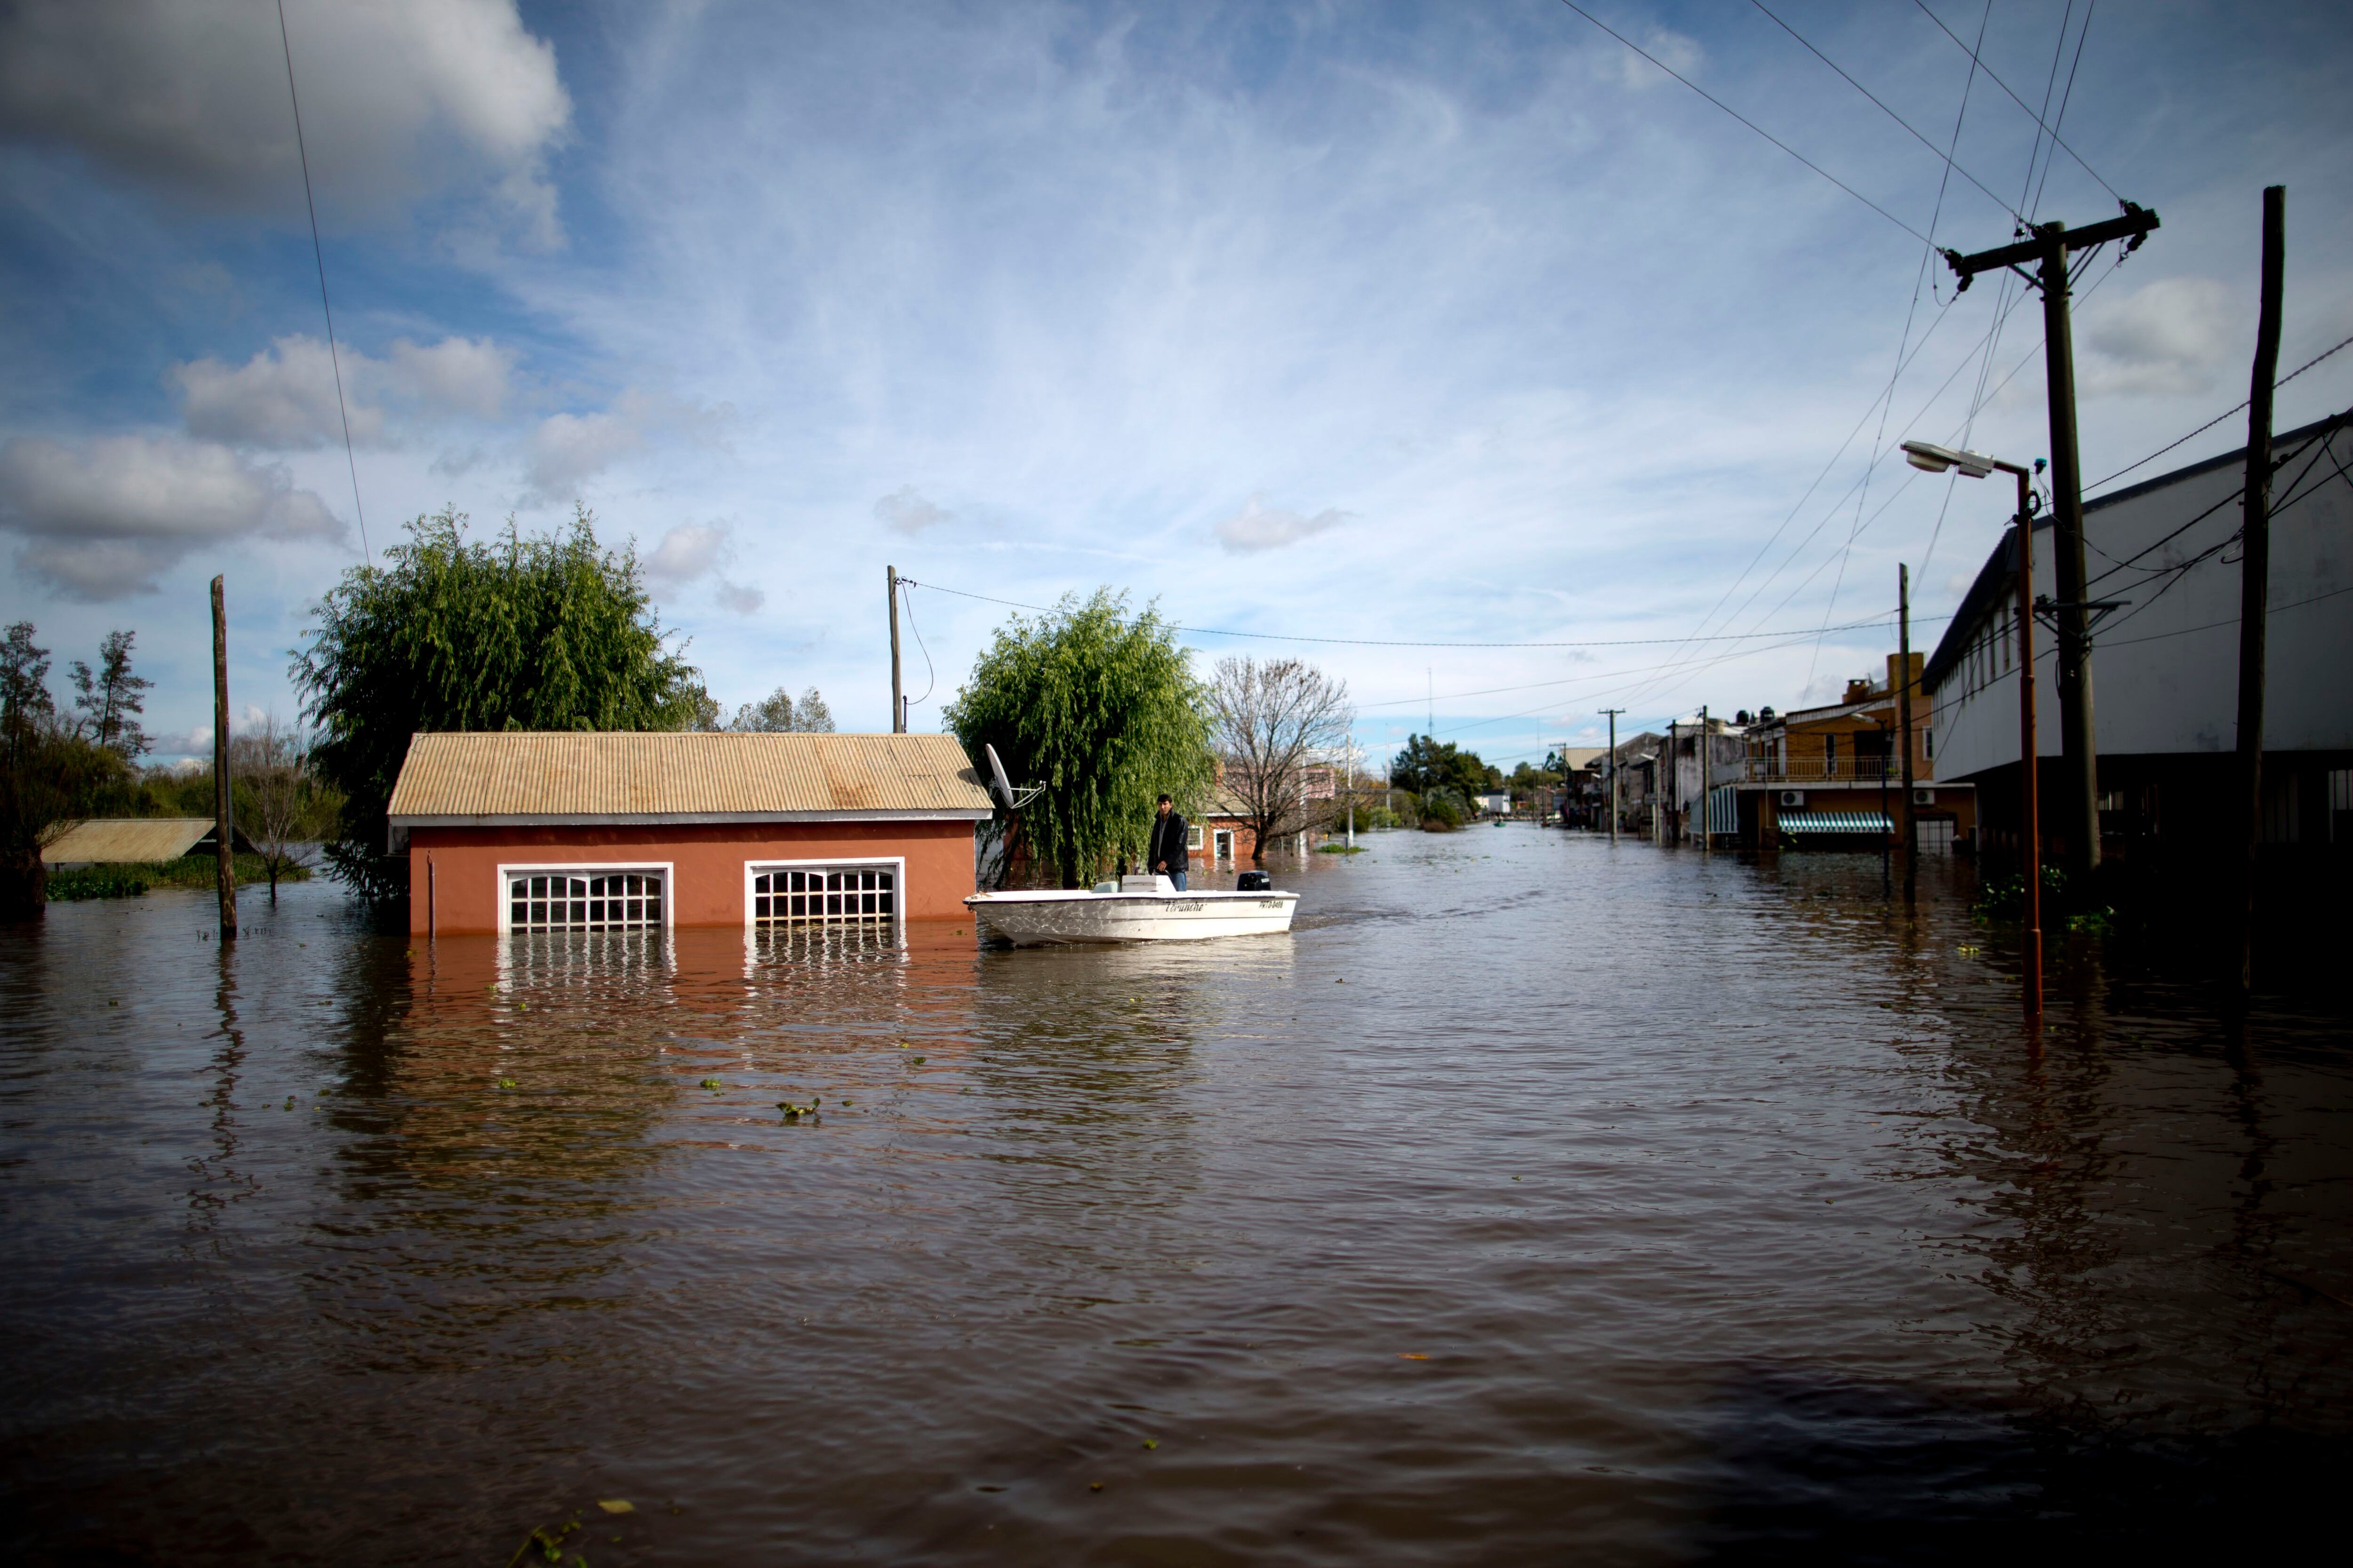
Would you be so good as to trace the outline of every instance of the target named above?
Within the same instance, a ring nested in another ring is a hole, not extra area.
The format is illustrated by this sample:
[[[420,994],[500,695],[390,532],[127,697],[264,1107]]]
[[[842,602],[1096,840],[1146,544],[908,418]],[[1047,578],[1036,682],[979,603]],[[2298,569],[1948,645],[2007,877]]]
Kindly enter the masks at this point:
[[[75,599],[151,592],[205,545],[261,536],[344,538],[344,524],[278,465],[209,442],[113,435],[85,447],[21,437],[0,447],[0,527],[16,567]]]

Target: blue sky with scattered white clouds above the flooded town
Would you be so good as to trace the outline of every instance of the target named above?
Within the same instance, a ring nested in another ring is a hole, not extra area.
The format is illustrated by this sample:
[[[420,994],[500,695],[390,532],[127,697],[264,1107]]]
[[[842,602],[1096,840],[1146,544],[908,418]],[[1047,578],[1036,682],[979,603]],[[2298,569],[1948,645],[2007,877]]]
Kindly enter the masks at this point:
[[[1929,242],[2160,214],[2075,280],[2087,482],[2247,395],[2264,186],[2282,371],[2353,336],[2334,7],[1581,2],[24,0],[0,618],[207,752],[214,574],[294,717],[407,520],[581,505],[727,708],[887,729],[896,569],[913,729],[1111,588],[1511,766],[1835,701],[1899,564],[1934,646],[2012,496],[1897,442],[2049,440],[2038,296]]]

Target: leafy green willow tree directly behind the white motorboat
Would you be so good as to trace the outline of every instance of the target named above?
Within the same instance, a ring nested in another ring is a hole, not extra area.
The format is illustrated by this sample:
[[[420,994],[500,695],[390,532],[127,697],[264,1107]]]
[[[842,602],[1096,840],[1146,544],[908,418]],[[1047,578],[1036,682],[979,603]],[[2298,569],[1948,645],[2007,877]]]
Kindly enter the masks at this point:
[[[1155,797],[1191,811],[1214,776],[1207,691],[1176,628],[1153,609],[1129,618],[1108,588],[1000,625],[944,717],[974,762],[995,745],[1016,780],[1040,785],[1019,835],[1061,886],[1141,858]]]

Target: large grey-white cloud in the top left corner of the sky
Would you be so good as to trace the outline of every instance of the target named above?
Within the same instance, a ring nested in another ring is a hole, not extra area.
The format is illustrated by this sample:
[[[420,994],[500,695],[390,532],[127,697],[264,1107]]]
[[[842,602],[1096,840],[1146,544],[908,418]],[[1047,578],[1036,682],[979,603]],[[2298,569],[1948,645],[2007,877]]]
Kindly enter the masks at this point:
[[[546,155],[572,99],[513,0],[289,2],[304,136],[329,226],[454,190],[553,242]],[[278,12],[249,0],[21,0],[0,19],[0,134],[165,195],[301,214]]]

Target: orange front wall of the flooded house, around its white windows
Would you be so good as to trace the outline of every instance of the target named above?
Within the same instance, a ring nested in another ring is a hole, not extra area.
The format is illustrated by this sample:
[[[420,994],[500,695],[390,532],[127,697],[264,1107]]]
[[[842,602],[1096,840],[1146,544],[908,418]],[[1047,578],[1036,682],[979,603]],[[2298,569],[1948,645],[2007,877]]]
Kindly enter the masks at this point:
[[[673,926],[741,926],[746,860],[906,860],[906,919],[965,919],[972,823],[675,823],[647,827],[412,827],[409,933],[499,929],[499,867],[668,860]]]

